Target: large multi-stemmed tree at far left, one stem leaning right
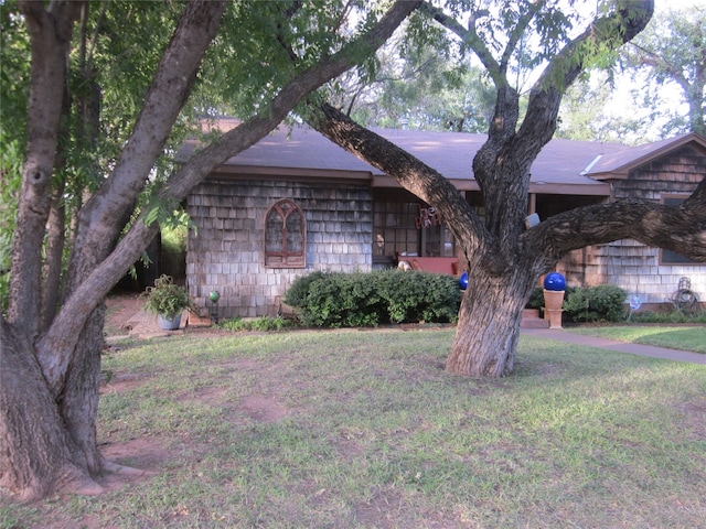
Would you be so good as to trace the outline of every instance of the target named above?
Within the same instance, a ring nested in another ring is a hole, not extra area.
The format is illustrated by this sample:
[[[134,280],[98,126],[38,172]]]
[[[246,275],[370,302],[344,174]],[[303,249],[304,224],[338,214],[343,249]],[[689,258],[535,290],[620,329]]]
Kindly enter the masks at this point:
[[[4,8],[11,9],[10,3]],[[90,87],[84,97],[72,100],[67,95],[75,33],[85,35],[85,14],[90,7],[99,8],[93,19],[99,35],[105,28],[101,21],[109,20],[111,10],[127,8],[132,20],[148,23],[149,18],[136,19],[136,12],[153,4],[17,2],[13,20],[22,20],[29,32],[31,78],[9,309],[0,322],[0,486],[20,499],[60,489],[95,493],[100,490],[96,478],[114,468],[101,456],[96,440],[103,301],[159,229],[152,222],[154,207],[139,209],[137,205],[170,134],[184,119],[183,107],[197,78],[220,82],[218,89],[249,101],[250,109],[244,112],[240,126],[211,136],[196,155],[171,173],[153,193],[161,209],[173,208],[214,168],[266,136],[304,96],[370,56],[418,3],[386,2],[389,8],[385,11],[372,9],[379,6],[371,2],[355,31],[344,23],[347,2],[190,0],[158,6],[165,10],[175,6],[181,13],[174,17],[171,39],[156,55],[159,63],[152,64],[142,100],[132,107],[120,102],[125,116],[116,119],[129,123],[129,133],[106,164],[108,172],[96,179],[95,192],[81,201],[69,237],[63,302],[54,313],[58,296],[42,293],[56,282],[47,281],[50,274],[43,273],[43,267],[45,259],[60,258],[61,252],[43,250],[47,224],[52,225],[52,205],[61,202],[52,197],[66,196],[66,172],[57,171],[67,166],[62,154],[71,153],[62,148],[65,134],[71,133],[64,118],[82,121],[85,127],[78,130],[84,140],[109,134],[116,127],[115,122],[88,118],[90,109],[96,109],[89,95],[101,88],[92,83],[98,76],[84,78],[84,88]],[[154,17],[152,23],[159,25],[153,31],[159,33],[161,24],[171,19],[159,13]],[[142,42],[118,45],[126,34],[135,35],[114,26],[105,40],[78,47],[85,52],[103,43],[105,53],[113,50],[115,62],[122,53],[136,51],[149,60],[153,48],[141,47]],[[282,44],[301,52],[298,65],[288,63]],[[78,55],[78,64],[85,66],[86,56]],[[207,102],[208,86],[202,87]],[[67,112],[76,100],[82,101],[83,110]],[[129,114],[131,108],[133,115]],[[100,127],[92,129],[96,123]],[[95,168],[98,171],[99,164]],[[90,188],[81,190],[87,191]],[[137,220],[131,220],[138,214]]]

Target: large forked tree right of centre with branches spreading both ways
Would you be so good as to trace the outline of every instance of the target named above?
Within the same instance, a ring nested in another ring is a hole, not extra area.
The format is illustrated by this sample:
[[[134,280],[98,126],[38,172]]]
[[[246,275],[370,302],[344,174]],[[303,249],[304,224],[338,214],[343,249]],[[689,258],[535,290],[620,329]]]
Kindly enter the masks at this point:
[[[430,2],[421,8],[473,52],[495,86],[488,141],[469,160],[483,196],[484,218],[441,174],[321,99],[312,99],[308,118],[330,140],[393,176],[445,218],[469,271],[447,370],[473,377],[500,377],[513,370],[522,310],[539,277],[568,251],[632,238],[706,260],[706,182],[680,207],[622,201],[577,208],[525,228],[530,170],[554,134],[564,93],[595,60],[642,31],[653,3],[613,2],[575,35],[563,31],[573,24],[558,9],[559,2],[499,4],[495,10],[467,13],[466,25]],[[527,56],[524,46],[532,42],[542,47]],[[523,66],[523,57],[530,60],[525,65],[546,66],[521,115],[511,73]]]

